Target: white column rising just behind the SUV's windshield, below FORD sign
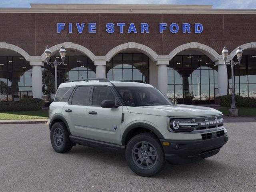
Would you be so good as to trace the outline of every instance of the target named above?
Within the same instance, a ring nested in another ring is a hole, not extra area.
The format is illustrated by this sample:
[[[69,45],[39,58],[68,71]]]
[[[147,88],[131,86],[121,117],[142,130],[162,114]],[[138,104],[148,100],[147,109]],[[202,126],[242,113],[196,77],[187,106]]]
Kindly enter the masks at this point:
[[[167,65],[169,61],[157,61],[158,66],[158,90],[167,95]]]

